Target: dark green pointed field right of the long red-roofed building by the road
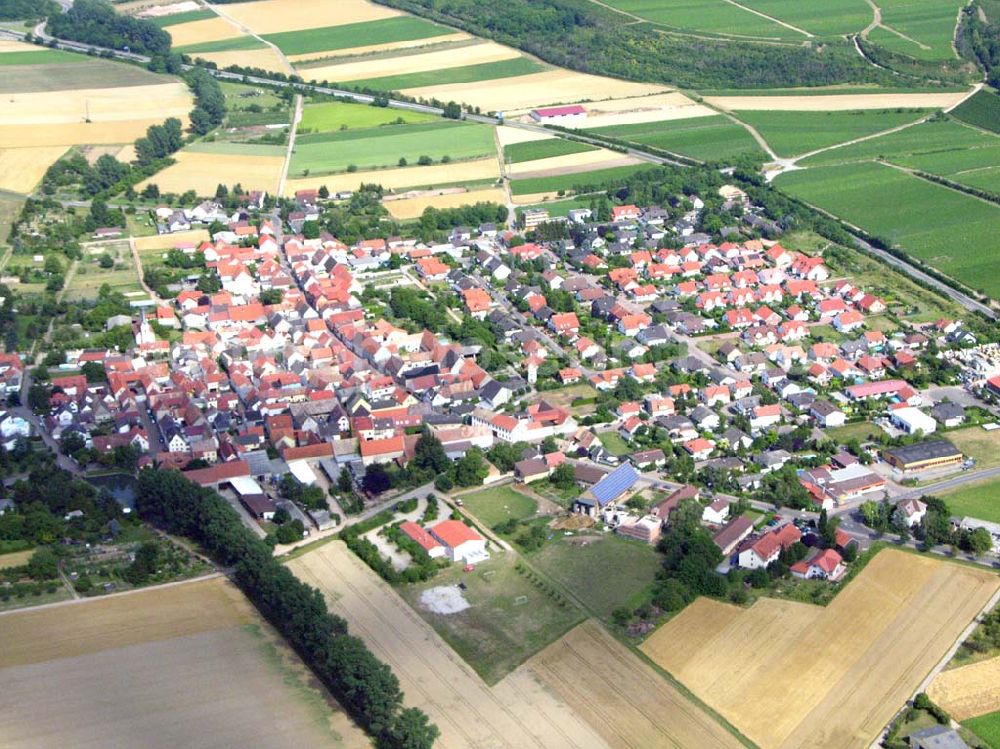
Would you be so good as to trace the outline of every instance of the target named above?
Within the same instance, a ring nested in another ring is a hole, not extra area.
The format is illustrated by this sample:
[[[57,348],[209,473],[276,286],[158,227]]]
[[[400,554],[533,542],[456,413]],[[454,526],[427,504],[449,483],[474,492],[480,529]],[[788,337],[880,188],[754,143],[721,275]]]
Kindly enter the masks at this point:
[[[705,161],[726,161],[747,153],[764,154],[746,128],[722,115],[613,125],[591,132]]]

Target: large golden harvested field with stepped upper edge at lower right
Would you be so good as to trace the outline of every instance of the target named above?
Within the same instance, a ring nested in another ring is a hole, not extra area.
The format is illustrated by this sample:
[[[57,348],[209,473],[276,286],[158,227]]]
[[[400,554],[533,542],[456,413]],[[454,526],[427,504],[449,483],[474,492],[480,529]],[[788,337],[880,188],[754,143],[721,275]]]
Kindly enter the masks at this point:
[[[867,747],[998,587],[883,551],[825,608],[699,598],[642,650],[762,749]]]

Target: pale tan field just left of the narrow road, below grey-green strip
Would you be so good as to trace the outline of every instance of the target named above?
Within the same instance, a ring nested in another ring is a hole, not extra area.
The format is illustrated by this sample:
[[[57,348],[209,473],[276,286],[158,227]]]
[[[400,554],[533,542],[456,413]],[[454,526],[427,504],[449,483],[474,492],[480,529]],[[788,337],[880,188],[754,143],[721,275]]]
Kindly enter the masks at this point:
[[[215,195],[220,184],[239,182],[245,190],[274,192],[281,176],[284,159],[281,156],[236,156],[232,154],[178,151],[176,164],[157,172],[136,186],[141,190],[155,183],[160,192],[184,193],[194,190],[198,195]]]

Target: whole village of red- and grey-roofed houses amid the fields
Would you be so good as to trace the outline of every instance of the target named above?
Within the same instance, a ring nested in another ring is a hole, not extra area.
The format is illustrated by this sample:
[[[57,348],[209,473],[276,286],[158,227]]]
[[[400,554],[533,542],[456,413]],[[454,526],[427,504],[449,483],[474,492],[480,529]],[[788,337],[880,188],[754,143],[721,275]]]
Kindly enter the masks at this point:
[[[551,519],[564,533],[656,544],[695,502],[719,572],[780,557],[796,577],[837,581],[875,537],[863,504],[922,536],[914,485],[975,475],[947,433],[996,427],[1000,360],[961,320],[887,326],[886,301],[835,278],[822,254],[747,238],[761,233],[754,207],[734,187],[724,198],[746,231],[719,244],[694,231],[696,195],[679,196],[674,218],[635,205],[604,221],[594,209],[532,211],[518,227],[459,226],[436,244],[353,246],[303,235],[326,202],[315,190],[284,221],[261,212],[259,193],[232,216],[212,201],[164,206],[171,251],[203,262],[218,290],[196,288],[195,272],[173,298],[108,321],[131,327],[130,350],[67,352],[61,369],[76,373],[47,383],[4,355],[7,395],[46,397],[37,416],[0,416],[0,434],[11,449],[40,428],[79,472],[95,461],[181,469],[282,544],[367,528],[428,489],[531,492],[558,474],[558,491],[541,494],[561,502]],[[223,220],[210,240],[183,240]],[[867,435],[850,433],[858,422]],[[458,466],[458,486],[454,469],[406,472],[429,441]],[[397,514],[399,529],[469,566],[509,548],[460,494],[448,501],[433,524]],[[819,527],[828,518],[833,530]],[[987,519],[951,523],[1000,545]],[[404,569],[412,555],[384,535],[367,538]]]

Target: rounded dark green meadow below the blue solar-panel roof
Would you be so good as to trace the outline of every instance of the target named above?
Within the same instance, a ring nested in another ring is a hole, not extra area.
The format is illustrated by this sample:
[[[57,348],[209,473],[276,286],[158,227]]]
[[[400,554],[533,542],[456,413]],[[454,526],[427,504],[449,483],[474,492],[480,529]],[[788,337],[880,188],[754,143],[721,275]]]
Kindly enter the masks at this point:
[[[660,555],[649,544],[611,533],[557,536],[532,554],[531,563],[608,619],[619,606],[643,602],[660,569]]]

